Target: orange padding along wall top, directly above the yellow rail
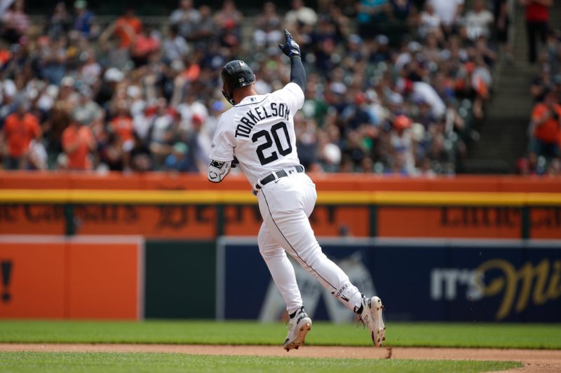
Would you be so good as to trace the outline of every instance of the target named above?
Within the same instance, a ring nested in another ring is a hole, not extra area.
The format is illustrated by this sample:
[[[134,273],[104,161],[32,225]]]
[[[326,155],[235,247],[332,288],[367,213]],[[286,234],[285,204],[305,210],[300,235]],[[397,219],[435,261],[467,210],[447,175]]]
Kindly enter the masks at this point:
[[[561,177],[310,174],[318,191],[393,190],[435,192],[561,192]],[[204,175],[0,171],[0,189],[250,190],[242,175],[212,184]]]

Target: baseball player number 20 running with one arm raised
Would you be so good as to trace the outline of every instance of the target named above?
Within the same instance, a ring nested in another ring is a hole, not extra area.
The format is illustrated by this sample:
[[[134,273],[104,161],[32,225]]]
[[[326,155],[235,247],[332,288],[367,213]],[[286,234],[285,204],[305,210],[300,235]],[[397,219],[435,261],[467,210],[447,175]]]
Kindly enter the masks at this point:
[[[263,224],[257,242],[280,294],[287,304],[289,330],[286,351],[304,344],[311,318],[304,311],[295,271],[286,253],[360,319],[370,330],[372,342],[381,346],[385,337],[379,297],[367,298],[349,281],[342,269],[321,251],[309,216],[316,204],[316,185],[298,160],[294,115],[304,104],[306,73],[300,47],[285,30],[290,57],[290,83],[270,94],[257,94],[255,75],[243,61],[222,69],[222,93],[234,105],[222,114],[212,141],[208,180],[219,183],[230,167],[239,163],[259,200]]]

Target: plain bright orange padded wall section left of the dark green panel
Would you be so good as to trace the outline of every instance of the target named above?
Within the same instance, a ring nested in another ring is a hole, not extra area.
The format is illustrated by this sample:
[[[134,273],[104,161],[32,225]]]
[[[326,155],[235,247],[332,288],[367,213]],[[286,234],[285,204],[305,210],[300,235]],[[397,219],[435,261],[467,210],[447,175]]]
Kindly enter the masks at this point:
[[[0,318],[142,318],[138,243],[18,238],[0,237]]]

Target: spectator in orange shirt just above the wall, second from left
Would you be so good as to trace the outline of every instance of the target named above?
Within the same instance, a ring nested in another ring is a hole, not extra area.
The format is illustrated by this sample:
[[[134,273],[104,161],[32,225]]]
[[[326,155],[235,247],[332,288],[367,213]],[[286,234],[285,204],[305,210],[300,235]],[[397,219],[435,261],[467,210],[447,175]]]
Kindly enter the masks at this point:
[[[76,111],[74,120],[62,132],[62,149],[68,156],[68,168],[85,170],[92,168],[88,158],[90,151],[95,149],[95,139],[90,127],[83,125],[87,118],[82,118],[82,111]]]

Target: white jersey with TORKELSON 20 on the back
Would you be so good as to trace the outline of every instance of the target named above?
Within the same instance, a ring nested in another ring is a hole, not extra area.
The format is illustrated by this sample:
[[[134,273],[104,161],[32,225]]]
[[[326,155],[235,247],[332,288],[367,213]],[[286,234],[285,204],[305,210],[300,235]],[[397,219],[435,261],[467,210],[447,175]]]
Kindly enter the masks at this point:
[[[252,185],[273,171],[300,164],[294,115],[303,104],[304,92],[296,83],[245,97],[221,115],[210,160],[230,162],[236,156]]]

